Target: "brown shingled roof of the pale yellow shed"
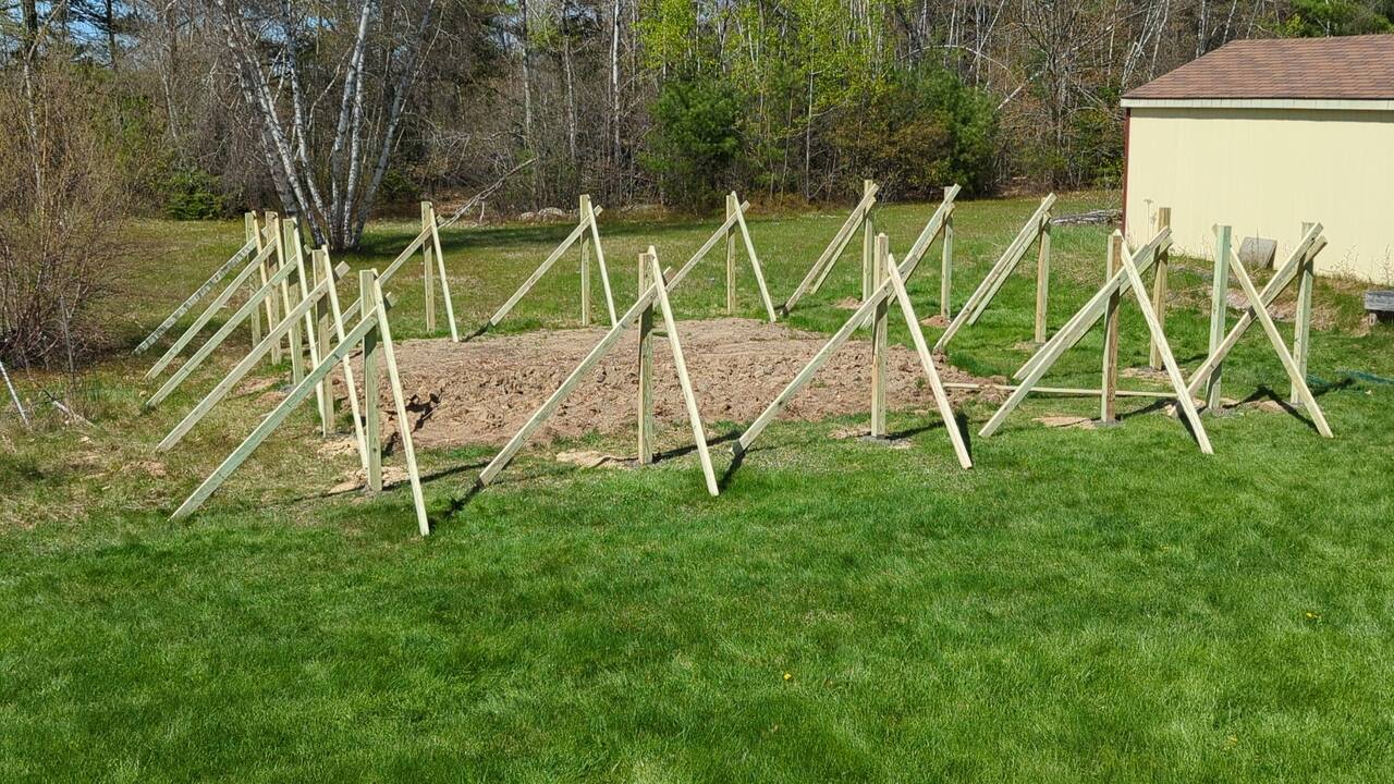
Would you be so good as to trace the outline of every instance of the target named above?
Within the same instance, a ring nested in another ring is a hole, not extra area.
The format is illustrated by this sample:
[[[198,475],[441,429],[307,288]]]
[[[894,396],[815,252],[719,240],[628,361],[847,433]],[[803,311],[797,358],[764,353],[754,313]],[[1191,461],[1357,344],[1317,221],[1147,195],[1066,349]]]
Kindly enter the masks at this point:
[[[1232,40],[1124,98],[1394,99],[1394,35]]]

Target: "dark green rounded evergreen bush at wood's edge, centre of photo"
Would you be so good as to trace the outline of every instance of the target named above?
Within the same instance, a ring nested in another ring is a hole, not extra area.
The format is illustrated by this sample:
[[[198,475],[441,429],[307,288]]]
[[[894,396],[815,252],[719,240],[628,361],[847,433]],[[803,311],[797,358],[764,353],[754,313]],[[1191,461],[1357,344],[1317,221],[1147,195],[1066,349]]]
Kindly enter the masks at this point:
[[[735,91],[707,78],[673,80],[650,112],[654,131],[641,162],[658,179],[665,201],[677,206],[714,204],[742,159]]]

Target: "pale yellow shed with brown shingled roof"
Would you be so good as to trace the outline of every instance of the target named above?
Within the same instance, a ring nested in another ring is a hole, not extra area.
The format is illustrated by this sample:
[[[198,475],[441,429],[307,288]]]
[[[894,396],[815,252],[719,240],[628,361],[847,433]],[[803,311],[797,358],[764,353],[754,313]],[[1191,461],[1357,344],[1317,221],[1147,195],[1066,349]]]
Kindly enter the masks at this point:
[[[1236,40],[1122,106],[1132,244],[1170,206],[1182,252],[1209,258],[1227,223],[1281,259],[1315,220],[1319,273],[1394,283],[1394,35]]]

